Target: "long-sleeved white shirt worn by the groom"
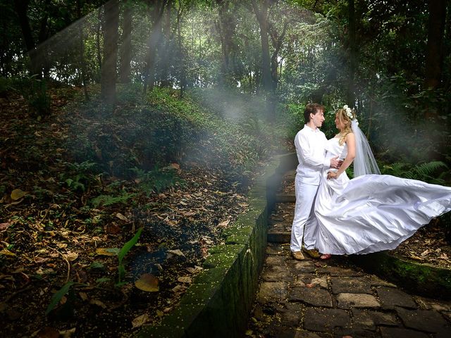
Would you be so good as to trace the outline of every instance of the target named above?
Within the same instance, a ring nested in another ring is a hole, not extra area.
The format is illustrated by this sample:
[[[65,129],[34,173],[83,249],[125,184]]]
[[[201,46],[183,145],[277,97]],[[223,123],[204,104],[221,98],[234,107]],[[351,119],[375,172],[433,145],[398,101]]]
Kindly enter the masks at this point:
[[[318,128],[316,130],[304,125],[297,132],[295,146],[297,161],[296,173],[302,184],[319,185],[321,169],[330,167],[330,159],[326,155],[326,135]]]

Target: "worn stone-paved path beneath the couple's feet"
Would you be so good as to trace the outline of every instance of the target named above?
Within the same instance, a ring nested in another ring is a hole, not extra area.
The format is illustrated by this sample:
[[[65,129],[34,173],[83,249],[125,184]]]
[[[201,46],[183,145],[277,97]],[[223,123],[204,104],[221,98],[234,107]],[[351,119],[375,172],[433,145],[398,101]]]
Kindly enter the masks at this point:
[[[285,176],[281,203],[271,215],[267,257],[254,311],[243,337],[447,338],[451,302],[403,292],[363,273],[345,256],[329,261],[290,256],[294,210]]]

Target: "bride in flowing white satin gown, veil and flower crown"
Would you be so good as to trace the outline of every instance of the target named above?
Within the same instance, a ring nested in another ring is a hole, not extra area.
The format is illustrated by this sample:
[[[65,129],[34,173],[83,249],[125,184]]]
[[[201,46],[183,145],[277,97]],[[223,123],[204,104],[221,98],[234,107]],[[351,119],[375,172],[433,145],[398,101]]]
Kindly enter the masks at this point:
[[[338,170],[324,169],[314,213],[316,248],[331,254],[395,249],[432,218],[451,210],[451,187],[380,174],[369,144],[348,106],[338,109],[326,157],[344,158]],[[354,179],[345,170],[354,161]]]

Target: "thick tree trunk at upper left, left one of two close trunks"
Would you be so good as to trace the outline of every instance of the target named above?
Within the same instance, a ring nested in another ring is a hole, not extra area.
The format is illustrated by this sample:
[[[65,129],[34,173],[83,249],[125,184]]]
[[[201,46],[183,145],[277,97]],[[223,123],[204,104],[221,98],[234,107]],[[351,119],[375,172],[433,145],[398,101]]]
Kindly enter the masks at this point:
[[[100,92],[106,104],[114,104],[116,102],[119,2],[118,0],[110,0],[104,6],[104,61],[101,67]]]

